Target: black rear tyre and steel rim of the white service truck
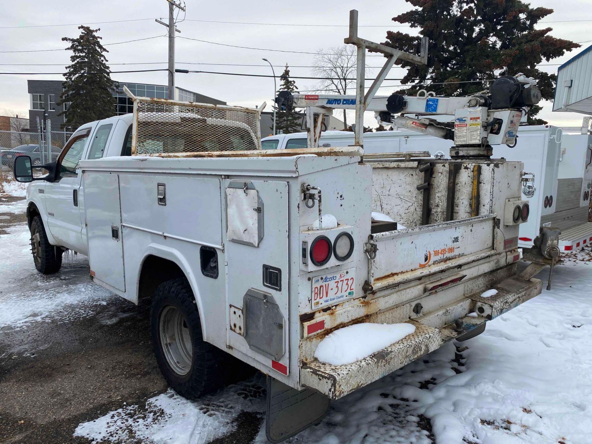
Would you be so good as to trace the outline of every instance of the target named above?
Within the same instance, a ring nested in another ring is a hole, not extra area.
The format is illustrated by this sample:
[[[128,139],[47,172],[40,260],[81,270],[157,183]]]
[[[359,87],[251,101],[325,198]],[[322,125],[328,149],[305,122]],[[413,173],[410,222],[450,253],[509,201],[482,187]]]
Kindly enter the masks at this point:
[[[187,279],[172,279],[156,288],[150,334],[160,371],[178,394],[194,399],[224,384],[231,356],[204,341]]]

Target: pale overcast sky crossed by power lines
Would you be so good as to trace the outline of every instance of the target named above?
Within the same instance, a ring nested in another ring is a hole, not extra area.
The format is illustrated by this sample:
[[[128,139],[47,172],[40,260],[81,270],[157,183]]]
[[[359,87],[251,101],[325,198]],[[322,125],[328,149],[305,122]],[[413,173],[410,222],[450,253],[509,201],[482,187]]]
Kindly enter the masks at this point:
[[[382,8],[371,6],[378,2],[355,2],[343,0],[339,2],[322,2],[300,0],[298,2],[279,2],[272,0],[258,1],[224,1],[196,2],[186,0],[186,20],[178,23],[182,31],[180,37],[199,38],[218,43],[240,46],[258,47],[275,50],[293,50],[315,52],[321,48],[343,44],[347,35],[349,9],[359,10],[360,25],[378,25],[361,27],[359,36],[368,40],[384,41],[387,30],[407,30],[395,28],[391,18],[410,9],[403,0],[387,2]],[[556,22],[545,24],[552,27],[552,36],[567,38],[572,41],[591,40],[592,9],[590,0],[533,0],[533,7],[545,6],[554,8],[554,14],[543,20],[584,20],[580,22]],[[578,12],[577,14],[575,12]],[[137,38],[159,36],[166,33],[166,28],[157,24],[154,18],[168,17],[166,0],[102,0],[90,2],[72,0],[2,2],[0,15],[0,50],[25,51],[62,49],[67,46],[62,37],[77,37],[76,25],[28,28],[4,28],[24,25],[61,25],[88,24],[90,22],[150,19],[123,23],[105,23],[91,25],[101,28],[99,36],[102,43],[116,43]],[[184,17],[183,12],[179,20]],[[238,21],[295,24],[298,26],[281,25],[250,25],[208,23],[195,20]],[[321,26],[300,26],[320,24]],[[392,25],[391,25],[392,24]],[[330,25],[345,25],[335,27]],[[539,25],[539,28],[543,24]],[[583,43],[582,48],[567,53],[549,63],[563,63],[580,52],[592,41]],[[166,37],[136,41],[107,46],[106,54],[112,71],[131,69],[157,69],[166,67],[168,43]],[[63,72],[69,63],[69,52],[29,52],[0,53],[0,72]],[[265,57],[275,67],[276,75],[282,72],[285,63],[290,66],[310,66],[312,54],[294,54],[272,52],[269,50],[237,49],[198,41],[176,39],[176,67],[218,71],[242,72],[253,74],[271,74],[271,68],[261,59]],[[380,57],[367,57],[367,65],[378,66]],[[116,65],[117,63],[148,63],[163,62],[160,65]],[[223,66],[223,65],[186,65],[191,63],[234,63],[262,66]],[[29,66],[4,65],[8,63],[38,64]],[[58,63],[56,66],[42,64]],[[544,62],[543,63],[547,63]],[[540,69],[556,72],[558,66],[542,66]],[[378,69],[374,70],[377,73]],[[401,78],[403,70],[394,68],[390,78]],[[293,76],[310,76],[308,67],[292,67]],[[140,73],[113,73],[112,78],[122,82],[155,83],[166,85],[166,71]],[[0,76],[0,115],[4,110],[14,110],[28,117],[29,95],[27,79],[63,79],[60,75],[2,75]],[[316,81],[297,79],[301,90],[313,89]],[[385,82],[387,83],[387,82]],[[390,82],[395,84],[397,82]],[[388,83],[387,83],[388,84]],[[176,86],[200,92],[229,104],[258,106],[263,101],[268,103],[266,110],[271,110],[274,94],[273,79],[250,78],[205,73],[177,74]],[[368,85],[366,85],[368,86]],[[394,91],[395,88],[392,89]],[[381,94],[392,92],[390,88],[382,88]],[[366,124],[372,123],[372,113],[366,116]],[[337,115],[337,117],[340,117]],[[551,104],[545,103],[540,117],[558,126],[580,126],[582,115],[575,113],[551,112]],[[375,124],[373,125],[375,126]]]

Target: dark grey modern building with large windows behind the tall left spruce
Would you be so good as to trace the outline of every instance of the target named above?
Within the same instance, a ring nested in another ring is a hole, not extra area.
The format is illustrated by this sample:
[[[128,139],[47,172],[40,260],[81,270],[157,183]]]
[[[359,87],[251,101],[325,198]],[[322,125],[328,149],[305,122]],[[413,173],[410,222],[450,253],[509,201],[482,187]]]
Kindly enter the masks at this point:
[[[113,92],[115,96],[115,108],[113,115],[128,114],[133,111],[133,102],[123,92],[123,86],[127,86],[130,92],[136,96],[166,98],[168,86],[150,85],[147,83],[118,82],[119,88]],[[29,128],[37,132],[37,118],[39,121],[50,120],[52,130],[62,130],[66,120],[63,115],[58,115],[67,109],[67,103],[61,107],[56,105],[62,94],[62,81],[59,80],[27,80],[30,99],[29,106]],[[175,100],[185,102],[200,102],[214,105],[226,105],[226,102],[189,91],[188,89],[175,86]]]

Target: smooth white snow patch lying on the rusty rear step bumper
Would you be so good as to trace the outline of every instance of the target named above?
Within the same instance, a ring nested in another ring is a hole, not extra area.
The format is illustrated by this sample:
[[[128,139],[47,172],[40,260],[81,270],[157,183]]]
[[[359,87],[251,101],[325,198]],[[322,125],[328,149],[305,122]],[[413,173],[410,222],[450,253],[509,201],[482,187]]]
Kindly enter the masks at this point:
[[[335,330],[317,346],[314,357],[332,365],[360,361],[415,332],[413,324],[363,322]]]

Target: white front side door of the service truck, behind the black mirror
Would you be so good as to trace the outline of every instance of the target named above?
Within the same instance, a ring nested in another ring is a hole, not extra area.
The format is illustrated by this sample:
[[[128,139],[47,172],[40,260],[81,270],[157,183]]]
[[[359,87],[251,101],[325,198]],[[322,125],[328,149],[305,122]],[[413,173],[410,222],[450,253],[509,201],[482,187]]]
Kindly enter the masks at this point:
[[[45,186],[47,226],[57,242],[86,255],[82,242],[82,227],[78,207],[78,189],[81,177],[76,172],[92,127],[77,131],[68,141],[57,159],[54,182]]]

